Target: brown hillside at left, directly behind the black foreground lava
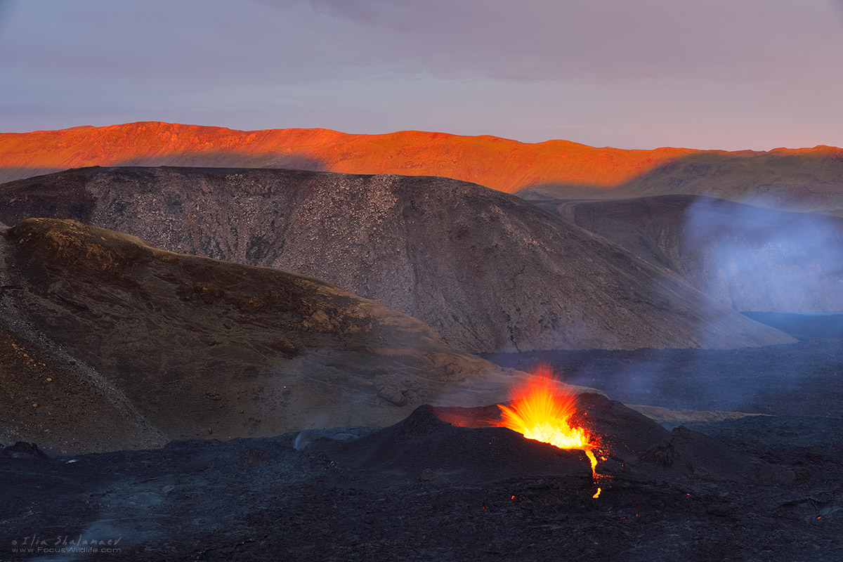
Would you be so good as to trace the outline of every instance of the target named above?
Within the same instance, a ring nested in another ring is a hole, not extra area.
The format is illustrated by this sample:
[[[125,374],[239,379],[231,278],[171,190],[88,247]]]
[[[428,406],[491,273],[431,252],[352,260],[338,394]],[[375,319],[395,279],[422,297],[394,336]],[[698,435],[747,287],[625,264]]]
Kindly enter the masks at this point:
[[[312,277],[52,219],[3,228],[0,254],[3,441],[80,452],[385,425],[510,374]]]

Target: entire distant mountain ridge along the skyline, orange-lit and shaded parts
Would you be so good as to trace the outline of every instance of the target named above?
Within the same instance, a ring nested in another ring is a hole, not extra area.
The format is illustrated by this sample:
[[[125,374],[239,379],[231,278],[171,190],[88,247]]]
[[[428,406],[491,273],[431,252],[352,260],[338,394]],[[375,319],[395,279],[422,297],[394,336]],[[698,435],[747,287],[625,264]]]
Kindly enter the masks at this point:
[[[622,150],[425,131],[233,131],[159,122],[0,134],[0,181],[84,166],[297,168],[437,175],[531,196],[712,195],[843,212],[843,151]]]

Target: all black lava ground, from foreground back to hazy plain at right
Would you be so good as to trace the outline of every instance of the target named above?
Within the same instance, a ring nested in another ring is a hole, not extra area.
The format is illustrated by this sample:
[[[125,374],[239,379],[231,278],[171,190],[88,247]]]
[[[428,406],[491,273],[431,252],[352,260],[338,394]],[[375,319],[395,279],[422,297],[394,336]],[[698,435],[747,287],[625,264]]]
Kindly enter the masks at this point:
[[[424,408],[383,430],[72,458],[7,447],[0,559],[836,562],[840,363],[823,355],[836,349],[829,337],[744,351],[556,356],[581,361],[579,369],[567,363],[574,382],[586,382],[577,380],[586,367],[603,372],[594,381],[614,383],[603,387],[613,399],[759,411],[747,407],[754,404],[772,414],[667,431],[586,395],[593,427],[635,442],[599,465],[612,476],[599,480],[596,499],[582,452],[503,428],[449,426]],[[660,378],[647,379],[651,394],[636,394],[629,378],[609,377],[619,366]],[[724,381],[734,383],[730,392],[716,392]]]

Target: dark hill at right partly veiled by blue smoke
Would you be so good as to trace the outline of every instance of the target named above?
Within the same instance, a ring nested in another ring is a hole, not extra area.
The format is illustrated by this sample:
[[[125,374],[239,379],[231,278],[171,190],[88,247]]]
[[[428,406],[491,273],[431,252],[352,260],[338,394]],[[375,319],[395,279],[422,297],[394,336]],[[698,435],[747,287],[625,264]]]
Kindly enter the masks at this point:
[[[742,311],[843,311],[843,218],[711,197],[538,203]]]

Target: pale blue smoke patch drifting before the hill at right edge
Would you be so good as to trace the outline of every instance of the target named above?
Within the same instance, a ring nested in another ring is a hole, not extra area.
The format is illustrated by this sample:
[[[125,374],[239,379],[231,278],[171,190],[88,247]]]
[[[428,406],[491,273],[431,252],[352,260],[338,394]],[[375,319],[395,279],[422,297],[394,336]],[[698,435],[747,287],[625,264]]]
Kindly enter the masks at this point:
[[[688,280],[731,308],[843,312],[843,219],[700,197],[680,244]]]

